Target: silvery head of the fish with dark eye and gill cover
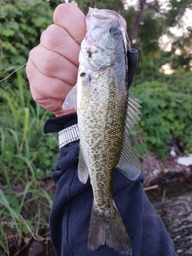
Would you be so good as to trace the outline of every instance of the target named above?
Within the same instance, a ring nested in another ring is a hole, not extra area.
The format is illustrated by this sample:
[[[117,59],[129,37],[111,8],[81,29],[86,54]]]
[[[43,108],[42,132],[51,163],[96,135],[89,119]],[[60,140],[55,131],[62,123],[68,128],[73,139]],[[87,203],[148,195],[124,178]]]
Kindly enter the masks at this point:
[[[122,49],[126,53],[126,31],[118,13],[110,10],[90,8],[86,25],[88,32],[81,44],[79,62],[96,75],[112,67]]]

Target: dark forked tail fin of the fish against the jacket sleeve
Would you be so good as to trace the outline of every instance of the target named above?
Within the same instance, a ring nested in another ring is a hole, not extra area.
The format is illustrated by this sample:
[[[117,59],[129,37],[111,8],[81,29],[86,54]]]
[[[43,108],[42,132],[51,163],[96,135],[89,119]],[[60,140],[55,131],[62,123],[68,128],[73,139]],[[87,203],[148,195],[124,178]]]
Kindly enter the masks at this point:
[[[106,245],[122,255],[132,255],[131,241],[119,216],[115,203],[108,212],[101,211],[93,202],[88,249]]]

